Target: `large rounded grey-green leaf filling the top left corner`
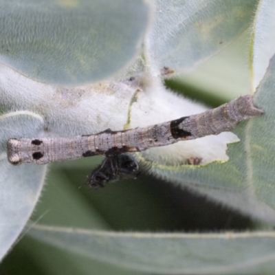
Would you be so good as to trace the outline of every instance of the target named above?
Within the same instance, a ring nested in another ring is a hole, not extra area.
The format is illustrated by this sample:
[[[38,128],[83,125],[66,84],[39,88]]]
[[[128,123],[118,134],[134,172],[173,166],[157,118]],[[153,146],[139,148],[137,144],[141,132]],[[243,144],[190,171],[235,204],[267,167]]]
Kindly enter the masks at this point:
[[[100,80],[137,54],[150,17],[142,0],[1,0],[0,61],[45,83]]]

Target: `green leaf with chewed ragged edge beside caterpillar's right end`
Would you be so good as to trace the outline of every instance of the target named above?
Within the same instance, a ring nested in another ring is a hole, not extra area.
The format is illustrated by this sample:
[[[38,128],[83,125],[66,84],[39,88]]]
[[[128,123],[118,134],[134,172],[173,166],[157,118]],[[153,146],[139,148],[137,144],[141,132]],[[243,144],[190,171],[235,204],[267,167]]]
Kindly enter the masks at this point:
[[[252,217],[275,223],[275,58],[256,91],[255,104],[265,114],[242,122],[230,144],[229,161],[201,166],[159,166],[153,173],[222,201]]]

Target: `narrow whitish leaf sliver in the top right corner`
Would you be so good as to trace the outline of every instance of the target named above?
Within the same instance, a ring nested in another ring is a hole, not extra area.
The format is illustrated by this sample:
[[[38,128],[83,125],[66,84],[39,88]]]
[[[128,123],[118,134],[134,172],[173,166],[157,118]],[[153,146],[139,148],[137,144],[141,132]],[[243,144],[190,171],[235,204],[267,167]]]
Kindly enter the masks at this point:
[[[259,85],[275,53],[275,2],[259,1],[250,41],[250,72],[253,91]]]

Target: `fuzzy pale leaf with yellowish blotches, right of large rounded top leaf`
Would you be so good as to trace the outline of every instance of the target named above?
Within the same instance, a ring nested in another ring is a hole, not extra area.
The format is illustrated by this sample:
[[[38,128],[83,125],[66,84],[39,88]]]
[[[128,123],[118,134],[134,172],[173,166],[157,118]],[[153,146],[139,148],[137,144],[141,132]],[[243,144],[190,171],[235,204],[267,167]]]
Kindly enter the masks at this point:
[[[257,1],[157,0],[146,58],[157,69],[182,71],[221,50],[251,22]]]

